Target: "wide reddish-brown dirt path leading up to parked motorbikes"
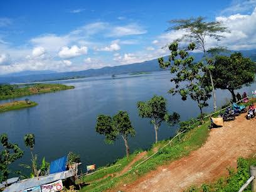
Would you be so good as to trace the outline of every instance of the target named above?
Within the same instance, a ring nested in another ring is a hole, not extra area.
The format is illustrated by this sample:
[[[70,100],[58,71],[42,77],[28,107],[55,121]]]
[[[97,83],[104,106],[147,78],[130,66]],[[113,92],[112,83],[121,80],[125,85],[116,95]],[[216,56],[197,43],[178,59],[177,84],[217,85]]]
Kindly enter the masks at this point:
[[[228,174],[227,167],[236,168],[237,158],[256,152],[256,119],[245,114],[225,122],[224,127],[211,129],[208,140],[187,157],[160,166],[121,191],[183,191],[189,186],[214,181]]]

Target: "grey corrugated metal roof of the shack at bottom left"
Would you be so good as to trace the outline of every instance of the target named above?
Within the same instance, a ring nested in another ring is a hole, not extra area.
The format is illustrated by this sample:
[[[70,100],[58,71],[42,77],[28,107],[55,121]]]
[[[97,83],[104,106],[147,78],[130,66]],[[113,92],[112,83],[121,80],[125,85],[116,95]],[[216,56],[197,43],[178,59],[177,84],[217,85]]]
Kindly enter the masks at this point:
[[[23,179],[21,181],[18,181],[17,183],[11,184],[11,186],[4,189],[4,192],[21,191],[24,189],[33,188],[34,186],[41,186],[42,184],[58,181],[60,179],[67,179],[72,176],[75,176],[75,171],[68,170],[60,173],[49,174],[47,176],[40,176],[38,178]]]

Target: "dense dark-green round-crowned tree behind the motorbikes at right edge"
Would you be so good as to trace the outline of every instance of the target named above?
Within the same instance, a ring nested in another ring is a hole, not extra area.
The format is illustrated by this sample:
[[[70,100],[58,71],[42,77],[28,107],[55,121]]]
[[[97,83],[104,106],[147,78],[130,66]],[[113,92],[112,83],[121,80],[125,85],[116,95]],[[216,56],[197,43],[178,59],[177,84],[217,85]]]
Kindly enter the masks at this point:
[[[237,101],[234,90],[242,88],[242,85],[249,85],[255,80],[256,63],[250,58],[244,58],[242,53],[216,56],[213,65],[215,88],[229,90],[232,93],[233,102]]]

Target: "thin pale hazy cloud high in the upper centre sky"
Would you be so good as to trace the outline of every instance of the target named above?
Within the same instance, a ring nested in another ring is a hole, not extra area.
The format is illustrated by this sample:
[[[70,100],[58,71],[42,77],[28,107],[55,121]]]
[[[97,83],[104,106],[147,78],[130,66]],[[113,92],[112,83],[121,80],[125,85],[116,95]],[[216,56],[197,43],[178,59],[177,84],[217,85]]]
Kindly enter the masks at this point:
[[[147,33],[137,24],[127,24],[125,26],[115,26],[109,33],[109,36],[127,36],[127,35],[142,35]]]

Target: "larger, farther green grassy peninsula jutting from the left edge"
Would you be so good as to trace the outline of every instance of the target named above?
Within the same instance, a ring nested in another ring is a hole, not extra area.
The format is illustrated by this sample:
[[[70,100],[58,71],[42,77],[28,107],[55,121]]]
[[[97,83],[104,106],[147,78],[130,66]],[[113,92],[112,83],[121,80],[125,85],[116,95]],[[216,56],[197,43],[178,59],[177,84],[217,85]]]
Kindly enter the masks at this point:
[[[23,97],[28,95],[36,95],[40,93],[50,93],[56,92],[59,90],[67,90],[75,88],[73,86],[67,86],[62,84],[43,84],[38,83],[31,87],[23,87],[23,88],[14,88],[13,90],[9,90],[8,93],[0,95],[0,99],[11,99],[15,97]]]

